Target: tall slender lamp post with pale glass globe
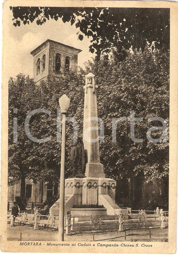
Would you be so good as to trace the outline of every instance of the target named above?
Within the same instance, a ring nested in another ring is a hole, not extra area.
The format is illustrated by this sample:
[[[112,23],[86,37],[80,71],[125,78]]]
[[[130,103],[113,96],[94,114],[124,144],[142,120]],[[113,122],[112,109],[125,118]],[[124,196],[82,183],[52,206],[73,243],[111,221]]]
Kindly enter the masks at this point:
[[[59,99],[62,114],[62,142],[61,142],[61,173],[60,173],[60,198],[59,198],[59,241],[64,241],[64,195],[65,195],[65,119],[70,105],[70,99],[63,95]]]

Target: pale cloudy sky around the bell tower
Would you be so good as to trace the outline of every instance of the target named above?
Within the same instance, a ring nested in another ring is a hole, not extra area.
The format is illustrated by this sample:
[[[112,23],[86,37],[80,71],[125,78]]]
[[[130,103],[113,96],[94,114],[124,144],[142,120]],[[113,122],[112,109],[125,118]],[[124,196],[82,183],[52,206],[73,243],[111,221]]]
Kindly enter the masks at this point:
[[[20,27],[15,27],[12,19],[12,11],[9,9],[6,32],[10,61],[6,69],[7,77],[15,77],[19,73],[33,77],[33,56],[30,53],[47,39],[81,49],[82,52],[78,54],[78,66],[82,68],[84,68],[84,62],[95,57],[94,54],[89,52],[90,40],[92,38],[87,38],[83,34],[83,40],[80,41],[76,34],[79,28],[76,29],[75,24],[71,26],[70,22],[63,23],[61,19],[58,21],[50,19],[41,26],[38,26],[36,21],[34,21],[29,25],[24,25],[21,22]]]

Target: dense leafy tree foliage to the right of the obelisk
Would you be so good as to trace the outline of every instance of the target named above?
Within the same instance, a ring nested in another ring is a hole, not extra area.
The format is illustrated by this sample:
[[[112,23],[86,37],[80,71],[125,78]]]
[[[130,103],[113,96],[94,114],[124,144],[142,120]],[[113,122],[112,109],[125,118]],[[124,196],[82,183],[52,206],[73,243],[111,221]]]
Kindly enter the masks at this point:
[[[169,145],[160,141],[152,143],[146,131],[162,124],[148,122],[151,117],[162,117],[169,127],[169,53],[145,49],[144,53],[125,51],[127,57],[121,62],[120,53],[99,62],[90,63],[87,72],[97,77],[98,115],[105,124],[105,142],[100,145],[100,154],[108,177],[145,177],[147,182],[168,174]],[[130,122],[117,124],[117,142],[112,142],[112,118],[129,117],[130,111],[143,122],[136,122],[135,137],[130,139]],[[169,129],[169,128],[168,128]],[[153,131],[158,138],[162,131]],[[169,134],[169,130],[168,130]],[[168,135],[169,140],[169,135]],[[109,156],[109,157],[108,157]]]

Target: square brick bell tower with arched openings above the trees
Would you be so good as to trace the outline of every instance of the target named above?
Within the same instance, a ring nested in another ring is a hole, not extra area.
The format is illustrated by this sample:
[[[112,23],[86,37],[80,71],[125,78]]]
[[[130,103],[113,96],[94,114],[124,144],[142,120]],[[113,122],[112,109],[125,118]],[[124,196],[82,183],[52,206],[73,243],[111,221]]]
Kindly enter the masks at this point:
[[[47,39],[31,52],[34,57],[34,80],[40,83],[47,76],[61,77],[67,70],[77,72],[80,49]]]

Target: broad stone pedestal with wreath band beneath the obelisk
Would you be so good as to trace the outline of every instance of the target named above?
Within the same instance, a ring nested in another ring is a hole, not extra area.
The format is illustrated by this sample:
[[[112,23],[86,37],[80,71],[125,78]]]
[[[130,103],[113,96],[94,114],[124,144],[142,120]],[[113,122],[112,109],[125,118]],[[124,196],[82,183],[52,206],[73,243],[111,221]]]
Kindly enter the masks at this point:
[[[104,205],[107,215],[119,214],[120,207],[115,203],[115,187],[116,181],[109,178],[66,179],[64,214],[67,214],[73,205],[81,204]],[[128,210],[122,209],[122,213],[128,214]],[[50,208],[50,215],[59,215],[59,199]]]

